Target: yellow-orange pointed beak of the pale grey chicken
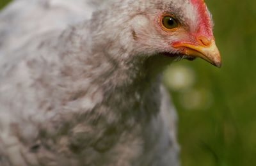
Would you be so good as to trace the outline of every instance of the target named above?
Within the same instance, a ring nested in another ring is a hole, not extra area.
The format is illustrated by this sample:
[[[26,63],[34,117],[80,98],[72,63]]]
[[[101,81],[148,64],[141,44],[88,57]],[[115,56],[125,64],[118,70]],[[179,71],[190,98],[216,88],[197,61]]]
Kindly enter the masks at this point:
[[[183,54],[187,56],[200,57],[205,61],[221,67],[221,57],[218,48],[216,47],[215,41],[209,41],[207,44],[201,42],[202,45],[192,45],[189,43],[177,43],[173,45],[174,48],[183,48]]]

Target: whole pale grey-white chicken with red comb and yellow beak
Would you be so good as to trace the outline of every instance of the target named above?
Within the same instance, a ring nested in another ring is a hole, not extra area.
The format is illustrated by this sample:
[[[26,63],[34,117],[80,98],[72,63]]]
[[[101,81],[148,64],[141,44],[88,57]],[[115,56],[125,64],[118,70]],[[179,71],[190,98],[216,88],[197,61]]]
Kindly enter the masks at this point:
[[[17,0],[0,13],[0,165],[179,165],[161,72],[220,67],[203,0]]]

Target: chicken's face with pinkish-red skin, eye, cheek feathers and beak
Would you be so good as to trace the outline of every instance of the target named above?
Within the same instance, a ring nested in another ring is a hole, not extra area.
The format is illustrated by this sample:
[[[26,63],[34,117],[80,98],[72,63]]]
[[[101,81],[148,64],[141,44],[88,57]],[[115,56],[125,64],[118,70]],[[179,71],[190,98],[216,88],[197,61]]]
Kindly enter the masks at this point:
[[[134,19],[133,36],[144,52],[154,50],[157,54],[187,59],[200,57],[221,66],[211,14],[204,0],[156,1]]]

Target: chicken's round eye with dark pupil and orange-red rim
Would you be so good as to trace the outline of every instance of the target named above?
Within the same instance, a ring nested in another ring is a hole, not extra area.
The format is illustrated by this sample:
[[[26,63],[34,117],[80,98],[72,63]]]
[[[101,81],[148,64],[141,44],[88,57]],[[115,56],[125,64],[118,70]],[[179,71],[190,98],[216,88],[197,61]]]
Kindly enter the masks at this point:
[[[173,15],[163,15],[161,18],[161,26],[167,31],[172,31],[179,27],[179,22]]]

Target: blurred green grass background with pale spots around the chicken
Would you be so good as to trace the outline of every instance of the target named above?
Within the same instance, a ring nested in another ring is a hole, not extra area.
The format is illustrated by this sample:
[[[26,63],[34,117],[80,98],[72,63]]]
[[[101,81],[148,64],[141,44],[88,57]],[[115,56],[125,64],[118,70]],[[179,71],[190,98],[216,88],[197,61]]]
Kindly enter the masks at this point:
[[[184,60],[164,73],[179,114],[181,163],[256,165],[256,1],[205,1],[222,68]]]

